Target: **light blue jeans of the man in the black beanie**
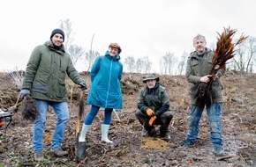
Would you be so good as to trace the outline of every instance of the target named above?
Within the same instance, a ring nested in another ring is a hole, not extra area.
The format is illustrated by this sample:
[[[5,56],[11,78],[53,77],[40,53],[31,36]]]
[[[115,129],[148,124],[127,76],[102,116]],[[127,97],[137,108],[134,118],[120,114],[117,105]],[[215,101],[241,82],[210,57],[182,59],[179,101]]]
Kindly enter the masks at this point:
[[[52,106],[57,117],[56,128],[50,148],[61,148],[64,139],[64,131],[70,117],[67,102],[51,102],[47,100],[35,99],[35,103],[39,114],[34,120],[34,152],[41,152],[43,149],[42,137],[49,105]]]

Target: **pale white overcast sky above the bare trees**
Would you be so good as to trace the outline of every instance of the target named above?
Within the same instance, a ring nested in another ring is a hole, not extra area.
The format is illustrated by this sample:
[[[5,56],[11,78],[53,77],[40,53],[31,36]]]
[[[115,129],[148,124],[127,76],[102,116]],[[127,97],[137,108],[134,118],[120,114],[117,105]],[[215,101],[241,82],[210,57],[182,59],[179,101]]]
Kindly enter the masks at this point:
[[[72,22],[73,44],[104,54],[110,42],[121,60],[148,56],[153,69],[167,52],[191,53],[198,33],[215,45],[223,27],[256,36],[255,0],[8,0],[0,3],[0,71],[26,69],[35,46],[49,40],[60,20]],[[157,60],[157,61],[154,61]],[[77,65],[79,71],[86,66]],[[155,71],[152,71],[155,72]]]

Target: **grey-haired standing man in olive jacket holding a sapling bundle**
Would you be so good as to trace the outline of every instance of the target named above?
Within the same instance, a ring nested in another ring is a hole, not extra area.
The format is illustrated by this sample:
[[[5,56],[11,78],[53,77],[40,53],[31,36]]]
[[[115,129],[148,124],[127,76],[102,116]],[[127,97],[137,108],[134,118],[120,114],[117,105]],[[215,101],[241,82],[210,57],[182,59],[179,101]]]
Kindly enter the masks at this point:
[[[202,35],[197,35],[193,39],[195,51],[190,54],[187,61],[185,77],[192,84],[192,91],[198,84],[206,83],[209,85],[211,96],[199,98],[193,96],[191,114],[188,120],[187,139],[184,141],[183,148],[193,147],[200,131],[200,118],[206,106],[207,119],[210,127],[211,142],[215,148],[215,155],[222,156],[222,84],[220,77],[224,69],[216,75],[209,75],[214,58],[214,52],[206,47],[206,39]]]

